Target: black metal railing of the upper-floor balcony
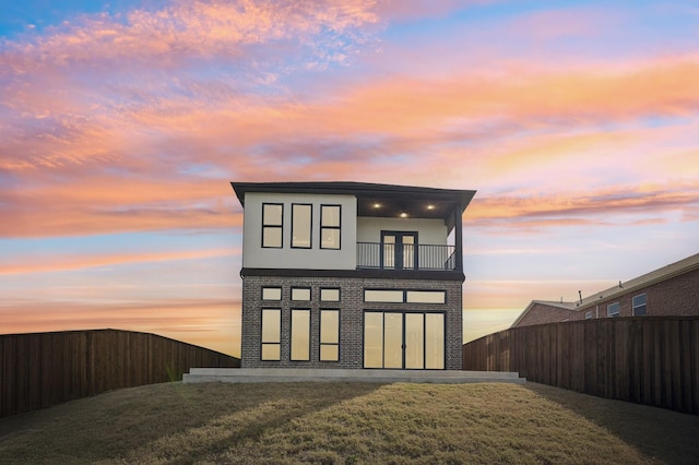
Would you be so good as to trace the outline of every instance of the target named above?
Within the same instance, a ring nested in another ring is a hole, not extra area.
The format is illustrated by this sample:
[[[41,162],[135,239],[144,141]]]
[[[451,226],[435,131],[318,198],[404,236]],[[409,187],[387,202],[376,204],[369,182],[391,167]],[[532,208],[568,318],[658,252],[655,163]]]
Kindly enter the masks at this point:
[[[454,246],[357,242],[357,269],[454,271]]]

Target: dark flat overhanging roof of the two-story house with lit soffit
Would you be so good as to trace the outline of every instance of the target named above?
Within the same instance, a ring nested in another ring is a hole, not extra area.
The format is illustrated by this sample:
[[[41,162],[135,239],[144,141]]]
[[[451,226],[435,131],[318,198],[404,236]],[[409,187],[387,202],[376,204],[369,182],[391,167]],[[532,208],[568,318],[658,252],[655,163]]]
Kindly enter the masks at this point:
[[[441,218],[451,223],[451,215],[463,213],[475,195],[474,190],[437,189],[414,186],[377,184],[370,182],[230,182],[245,208],[245,194],[265,193],[319,193],[354,195],[357,198],[358,216],[398,216]],[[377,207],[376,205],[380,205]],[[450,224],[453,226],[453,223]]]

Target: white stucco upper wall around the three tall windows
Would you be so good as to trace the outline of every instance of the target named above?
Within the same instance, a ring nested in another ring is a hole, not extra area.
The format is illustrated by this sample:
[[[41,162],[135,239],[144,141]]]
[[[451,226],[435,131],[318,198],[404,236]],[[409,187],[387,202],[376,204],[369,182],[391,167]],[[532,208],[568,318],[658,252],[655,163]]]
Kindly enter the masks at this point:
[[[282,248],[262,248],[262,204],[284,205]],[[293,249],[292,204],[312,205],[311,248]],[[320,248],[320,206],[341,205],[341,248]],[[242,266],[260,269],[354,270],[356,267],[357,201],[353,195],[249,192],[245,196]]]

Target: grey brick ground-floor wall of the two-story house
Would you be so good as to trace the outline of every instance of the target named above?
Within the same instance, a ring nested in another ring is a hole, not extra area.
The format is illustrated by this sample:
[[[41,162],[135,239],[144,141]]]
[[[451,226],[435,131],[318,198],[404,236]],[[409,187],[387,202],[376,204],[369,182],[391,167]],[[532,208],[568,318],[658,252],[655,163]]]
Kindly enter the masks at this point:
[[[281,302],[260,300],[262,287],[282,287]],[[292,301],[292,287],[310,287],[311,300]],[[340,288],[339,302],[321,302],[321,288]],[[365,302],[364,289],[445,290],[446,303]],[[441,312],[445,314],[445,368],[461,369],[463,345],[461,281],[395,279],[362,277],[292,277],[246,275],[242,282],[242,368],[350,368],[364,365],[364,311],[396,310]],[[281,308],[281,359],[261,360],[261,310]],[[292,309],[310,309],[310,360],[291,361]],[[320,361],[320,311],[340,310],[340,361]]]

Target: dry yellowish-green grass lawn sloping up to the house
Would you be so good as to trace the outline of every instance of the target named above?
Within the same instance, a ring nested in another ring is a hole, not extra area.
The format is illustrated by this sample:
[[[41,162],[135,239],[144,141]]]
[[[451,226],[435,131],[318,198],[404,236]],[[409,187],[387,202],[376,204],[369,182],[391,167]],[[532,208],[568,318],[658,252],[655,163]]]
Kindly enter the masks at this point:
[[[0,463],[697,463],[699,417],[535,383],[165,383],[0,420]]]

